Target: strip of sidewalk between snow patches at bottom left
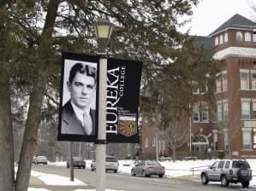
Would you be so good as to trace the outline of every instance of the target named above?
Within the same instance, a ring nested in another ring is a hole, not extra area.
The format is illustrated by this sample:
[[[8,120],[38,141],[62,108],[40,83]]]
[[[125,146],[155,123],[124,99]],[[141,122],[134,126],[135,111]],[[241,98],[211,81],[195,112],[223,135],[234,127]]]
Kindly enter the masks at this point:
[[[30,177],[29,188],[45,188],[50,191],[74,191],[77,189],[95,189],[92,186],[61,186],[61,185],[47,185],[38,177]]]

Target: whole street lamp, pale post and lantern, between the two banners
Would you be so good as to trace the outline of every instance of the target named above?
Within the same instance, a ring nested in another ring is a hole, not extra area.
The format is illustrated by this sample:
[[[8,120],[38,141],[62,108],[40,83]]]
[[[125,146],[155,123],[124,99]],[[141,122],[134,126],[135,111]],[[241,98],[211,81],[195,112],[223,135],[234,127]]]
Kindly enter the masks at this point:
[[[95,22],[98,40],[99,59],[99,96],[98,96],[98,141],[96,142],[97,191],[105,191],[105,155],[106,155],[106,86],[107,86],[107,54],[106,47],[114,25],[109,20],[99,19]]]

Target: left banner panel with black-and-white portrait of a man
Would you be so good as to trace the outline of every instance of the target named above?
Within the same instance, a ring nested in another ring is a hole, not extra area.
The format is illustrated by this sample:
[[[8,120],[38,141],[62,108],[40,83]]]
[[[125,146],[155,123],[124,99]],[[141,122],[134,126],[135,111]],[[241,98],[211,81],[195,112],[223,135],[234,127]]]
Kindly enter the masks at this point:
[[[63,59],[59,135],[71,141],[75,136],[96,136],[97,67],[93,62]]]

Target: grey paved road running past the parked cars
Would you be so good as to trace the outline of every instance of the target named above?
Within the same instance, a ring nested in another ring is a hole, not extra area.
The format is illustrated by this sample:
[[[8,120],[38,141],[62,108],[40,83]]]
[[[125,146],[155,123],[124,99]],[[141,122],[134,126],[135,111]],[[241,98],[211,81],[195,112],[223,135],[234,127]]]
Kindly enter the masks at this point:
[[[69,177],[69,169],[52,165],[33,165],[33,171],[40,171],[50,174],[57,174]],[[88,188],[95,188],[97,183],[96,172],[82,169],[74,170],[74,177],[90,185]],[[200,182],[170,179],[167,177],[131,177],[128,174],[106,173],[106,187],[124,191],[233,191],[249,190],[256,191],[256,188],[241,188],[241,184],[231,184],[228,188],[223,188],[219,183],[202,185]]]

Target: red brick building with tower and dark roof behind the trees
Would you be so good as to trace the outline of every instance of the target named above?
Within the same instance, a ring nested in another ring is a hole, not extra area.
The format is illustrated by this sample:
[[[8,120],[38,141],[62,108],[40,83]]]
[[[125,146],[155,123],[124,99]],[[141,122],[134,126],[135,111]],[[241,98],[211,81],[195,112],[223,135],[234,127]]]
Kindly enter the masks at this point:
[[[210,44],[213,58],[221,63],[221,72],[216,75],[216,117],[210,123],[212,108],[207,106],[205,95],[194,90],[199,103],[193,105],[193,115],[184,119],[191,138],[178,148],[177,156],[205,157],[211,148],[214,154],[256,158],[256,23],[235,14],[208,37],[197,39],[208,47]],[[156,125],[144,116],[142,152],[147,158],[156,158],[157,150],[158,156],[171,157]]]

